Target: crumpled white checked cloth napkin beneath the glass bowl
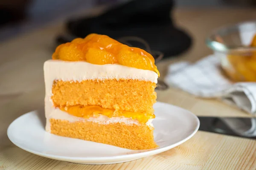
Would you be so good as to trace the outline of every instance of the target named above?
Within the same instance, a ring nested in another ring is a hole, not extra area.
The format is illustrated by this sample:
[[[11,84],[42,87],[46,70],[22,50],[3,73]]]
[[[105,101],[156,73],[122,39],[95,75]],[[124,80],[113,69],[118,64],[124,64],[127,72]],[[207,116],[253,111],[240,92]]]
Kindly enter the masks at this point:
[[[215,55],[209,55],[195,64],[178,62],[169,65],[165,82],[195,96],[219,98],[230,105],[236,105],[238,108],[256,115],[256,83],[232,83],[223,76],[220,65],[220,58]],[[226,121],[226,123],[229,122],[227,125],[230,127],[237,127],[238,121],[231,121],[233,123]],[[239,125],[244,125],[239,129],[239,133],[256,136],[255,119],[251,120],[251,125],[241,121]],[[245,127],[246,125],[247,127]]]

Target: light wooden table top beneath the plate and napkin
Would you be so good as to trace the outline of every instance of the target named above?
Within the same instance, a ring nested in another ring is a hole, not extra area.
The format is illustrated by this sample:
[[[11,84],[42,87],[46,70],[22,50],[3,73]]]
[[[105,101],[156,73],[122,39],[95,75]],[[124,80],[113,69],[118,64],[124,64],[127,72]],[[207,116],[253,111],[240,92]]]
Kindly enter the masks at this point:
[[[164,77],[166,67],[178,60],[194,62],[211,51],[204,38],[216,27],[255,20],[255,9],[177,9],[177,25],[193,36],[192,48],[177,59],[160,62],[157,66]],[[0,170],[14,169],[93,169],[93,170],[255,170],[256,141],[199,131],[189,139],[166,152],[136,161],[111,165],[82,165],[56,161],[28,153],[9,141],[9,124],[23,113],[44,106],[43,63],[52,54],[55,36],[63,31],[61,23],[27,32],[0,45]],[[180,90],[170,88],[157,91],[158,101],[192,111],[198,116],[240,116],[247,113],[215,99],[198,99]]]

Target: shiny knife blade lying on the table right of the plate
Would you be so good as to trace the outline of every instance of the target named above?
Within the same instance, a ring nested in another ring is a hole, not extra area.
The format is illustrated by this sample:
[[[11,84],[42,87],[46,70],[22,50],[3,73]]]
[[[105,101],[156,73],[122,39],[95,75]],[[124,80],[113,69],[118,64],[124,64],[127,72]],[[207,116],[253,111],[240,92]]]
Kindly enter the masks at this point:
[[[199,130],[256,139],[256,118],[198,116]]]

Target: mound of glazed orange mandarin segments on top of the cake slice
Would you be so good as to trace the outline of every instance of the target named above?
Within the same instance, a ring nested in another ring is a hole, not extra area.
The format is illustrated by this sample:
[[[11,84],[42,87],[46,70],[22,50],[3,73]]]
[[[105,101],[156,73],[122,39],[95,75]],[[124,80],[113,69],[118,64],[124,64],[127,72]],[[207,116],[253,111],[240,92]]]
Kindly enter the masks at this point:
[[[120,64],[128,67],[151,70],[160,76],[154,57],[148,52],[124,45],[106,35],[89,34],[84,39],[76,38],[59,45],[52,59],[86,61],[92,64]]]

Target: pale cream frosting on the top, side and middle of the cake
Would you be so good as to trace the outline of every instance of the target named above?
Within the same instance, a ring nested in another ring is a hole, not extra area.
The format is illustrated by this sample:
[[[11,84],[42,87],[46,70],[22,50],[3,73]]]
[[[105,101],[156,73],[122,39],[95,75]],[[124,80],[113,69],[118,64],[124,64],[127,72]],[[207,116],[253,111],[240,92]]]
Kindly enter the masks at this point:
[[[90,121],[102,124],[125,123],[138,124],[137,120],[125,117],[99,116],[97,118],[84,119],[72,116],[53,106],[52,84],[54,80],[82,81],[86,79],[138,79],[157,83],[158,75],[154,71],[131,68],[118,64],[95,65],[84,61],[67,62],[62,60],[47,60],[44,63],[45,80],[45,116],[47,118],[46,130],[50,131],[49,119],[62,119],[69,122]],[[149,119],[146,125],[153,127],[152,120]]]

